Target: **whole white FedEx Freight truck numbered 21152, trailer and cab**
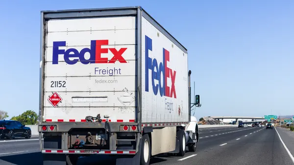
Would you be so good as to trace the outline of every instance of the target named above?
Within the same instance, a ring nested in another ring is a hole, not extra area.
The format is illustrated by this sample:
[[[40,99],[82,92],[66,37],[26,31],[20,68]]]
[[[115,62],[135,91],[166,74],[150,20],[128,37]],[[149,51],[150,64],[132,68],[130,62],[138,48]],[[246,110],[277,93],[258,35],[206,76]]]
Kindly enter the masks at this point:
[[[145,10],[41,15],[43,164],[117,154],[117,164],[148,165],[151,155],[195,151],[187,50]]]

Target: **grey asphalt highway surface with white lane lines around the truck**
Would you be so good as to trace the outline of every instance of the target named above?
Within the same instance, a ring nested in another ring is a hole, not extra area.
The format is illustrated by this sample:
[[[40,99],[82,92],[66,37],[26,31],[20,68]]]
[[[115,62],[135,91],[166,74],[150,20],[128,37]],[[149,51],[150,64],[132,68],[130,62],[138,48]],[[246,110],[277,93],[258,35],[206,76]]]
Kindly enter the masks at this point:
[[[150,164],[294,165],[293,142],[294,133],[280,127],[207,128],[200,130],[196,152],[187,151],[184,157],[158,155]],[[79,158],[78,165],[113,165],[114,161],[110,156],[93,155]],[[42,165],[38,140],[1,140],[0,165]]]

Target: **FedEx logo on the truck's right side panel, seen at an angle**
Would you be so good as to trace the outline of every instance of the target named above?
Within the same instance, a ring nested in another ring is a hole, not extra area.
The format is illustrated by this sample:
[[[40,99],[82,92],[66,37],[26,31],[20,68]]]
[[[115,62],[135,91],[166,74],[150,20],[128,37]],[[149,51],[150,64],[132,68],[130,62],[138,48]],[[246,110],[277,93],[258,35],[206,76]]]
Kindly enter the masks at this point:
[[[161,97],[176,98],[174,86],[176,71],[173,71],[167,65],[167,62],[170,61],[170,52],[163,48],[163,62],[158,63],[156,59],[149,57],[149,51],[152,51],[152,39],[145,36],[145,91],[149,91],[149,70],[151,70],[151,82],[154,95],[157,95],[159,91]],[[162,82],[161,74],[163,75]],[[167,84],[168,78],[172,81],[171,87]],[[155,85],[154,80],[158,80],[159,84]]]

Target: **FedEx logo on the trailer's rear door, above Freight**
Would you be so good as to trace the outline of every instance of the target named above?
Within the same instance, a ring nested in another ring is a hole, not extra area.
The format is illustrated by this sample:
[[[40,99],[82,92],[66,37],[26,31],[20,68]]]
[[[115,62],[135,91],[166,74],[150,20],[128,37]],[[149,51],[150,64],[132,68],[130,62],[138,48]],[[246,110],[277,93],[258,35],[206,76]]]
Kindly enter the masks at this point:
[[[121,48],[117,50],[116,48],[101,48],[101,45],[108,45],[108,40],[92,40],[90,48],[83,48],[80,52],[74,48],[67,50],[60,49],[60,46],[66,46],[66,41],[54,41],[53,42],[53,57],[52,63],[58,64],[58,56],[64,55],[64,61],[67,64],[73,65],[76,62],[80,61],[83,64],[88,63],[114,63],[119,61],[121,63],[126,63],[123,59],[123,52],[126,48]],[[102,53],[108,53],[108,50],[113,54],[113,57],[108,62],[108,58],[101,57]],[[85,59],[85,53],[90,54],[89,59]],[[72,58],[72,60],[70,59]]]

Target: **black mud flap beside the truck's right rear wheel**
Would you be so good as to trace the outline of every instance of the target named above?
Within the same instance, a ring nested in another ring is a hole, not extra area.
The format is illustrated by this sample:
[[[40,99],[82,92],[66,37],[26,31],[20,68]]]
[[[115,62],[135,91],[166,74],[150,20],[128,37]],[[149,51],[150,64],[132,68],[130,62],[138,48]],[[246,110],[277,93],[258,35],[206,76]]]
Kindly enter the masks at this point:
[[[122,156],[116,159],[116,165],[140,165],[142,140],[140,139],[138,152],[134,156]]]

